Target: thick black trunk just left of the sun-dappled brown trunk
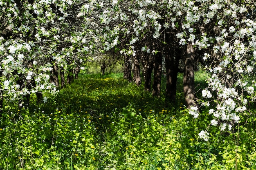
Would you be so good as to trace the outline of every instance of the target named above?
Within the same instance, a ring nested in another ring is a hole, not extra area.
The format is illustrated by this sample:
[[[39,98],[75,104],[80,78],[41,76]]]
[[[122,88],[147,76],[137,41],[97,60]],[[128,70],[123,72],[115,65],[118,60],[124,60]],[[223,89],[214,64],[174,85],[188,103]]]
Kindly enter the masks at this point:
[[[166,89],[165,100],[174,103],[177,91],[177,76],[179,72],[179,58],[171,56],[173,54],[166,54],[165,69],[166,69]]]

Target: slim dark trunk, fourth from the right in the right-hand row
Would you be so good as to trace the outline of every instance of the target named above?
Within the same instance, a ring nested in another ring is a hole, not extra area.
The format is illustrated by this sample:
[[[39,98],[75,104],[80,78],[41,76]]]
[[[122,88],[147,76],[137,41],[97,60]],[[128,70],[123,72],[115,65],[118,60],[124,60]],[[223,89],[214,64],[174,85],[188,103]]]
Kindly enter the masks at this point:
[[[145,54],[142,59],[142,65],[143,65],[143,75],[144,75],[144,81],[145,81],[145,86],[144,90],[145,91],[151,91],[151,74],[153,71],[153,60],[152,60],[152,55],[150,54]]]

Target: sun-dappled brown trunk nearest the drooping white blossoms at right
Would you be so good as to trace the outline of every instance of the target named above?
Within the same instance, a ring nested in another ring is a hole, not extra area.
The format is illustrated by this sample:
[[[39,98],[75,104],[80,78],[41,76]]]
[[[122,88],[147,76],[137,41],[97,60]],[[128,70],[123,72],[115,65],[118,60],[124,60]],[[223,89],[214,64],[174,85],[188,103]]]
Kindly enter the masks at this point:
[[[191,44],[187,44],[183,75],[183,91],[187,108],[195,105],[194,58],[195,49],[193,49]]]

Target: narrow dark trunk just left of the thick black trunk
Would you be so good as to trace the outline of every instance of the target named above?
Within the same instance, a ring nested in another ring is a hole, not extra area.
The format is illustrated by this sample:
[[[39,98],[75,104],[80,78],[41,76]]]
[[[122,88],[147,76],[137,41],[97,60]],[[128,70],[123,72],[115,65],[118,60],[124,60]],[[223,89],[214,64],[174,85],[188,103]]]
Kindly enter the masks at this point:
[[[160,97],[162,79],[162,53],[157,53],[154,60],[153,96]]]

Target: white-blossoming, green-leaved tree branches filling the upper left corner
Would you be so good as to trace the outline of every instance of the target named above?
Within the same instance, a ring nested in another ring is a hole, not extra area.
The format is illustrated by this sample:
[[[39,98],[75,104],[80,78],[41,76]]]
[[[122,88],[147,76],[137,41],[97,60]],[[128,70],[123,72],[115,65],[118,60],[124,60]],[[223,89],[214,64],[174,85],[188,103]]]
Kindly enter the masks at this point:
[[[58,91],[58,67],[73,69],[93,49],[92,31],[79,22],[77,7],[83,3],[0,1],[1,101],[18,99],[22,106],[32,93]]]

